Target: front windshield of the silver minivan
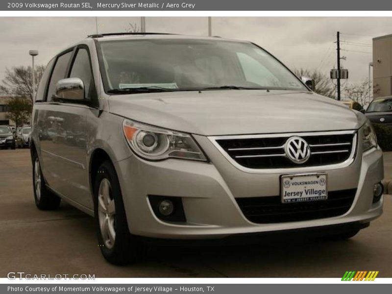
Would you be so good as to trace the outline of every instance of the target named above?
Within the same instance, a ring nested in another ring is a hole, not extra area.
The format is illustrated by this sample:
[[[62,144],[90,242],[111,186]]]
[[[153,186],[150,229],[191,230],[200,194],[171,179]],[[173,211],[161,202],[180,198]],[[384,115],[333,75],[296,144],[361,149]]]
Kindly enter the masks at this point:
[[[278,60],[251,43],[147,39],[99,44],[108,93],[214,89],[308,91]]]

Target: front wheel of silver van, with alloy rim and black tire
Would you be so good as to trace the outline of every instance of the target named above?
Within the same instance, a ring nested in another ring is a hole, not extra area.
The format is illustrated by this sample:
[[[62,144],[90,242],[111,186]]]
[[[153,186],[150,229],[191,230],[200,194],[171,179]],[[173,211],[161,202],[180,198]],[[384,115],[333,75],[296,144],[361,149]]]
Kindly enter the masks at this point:
[[[125,265],[145,255],[145,244],[129,232],[119,180],[110,161],[98,168],[95,177],[94,214],[98,245],[108,262]]]

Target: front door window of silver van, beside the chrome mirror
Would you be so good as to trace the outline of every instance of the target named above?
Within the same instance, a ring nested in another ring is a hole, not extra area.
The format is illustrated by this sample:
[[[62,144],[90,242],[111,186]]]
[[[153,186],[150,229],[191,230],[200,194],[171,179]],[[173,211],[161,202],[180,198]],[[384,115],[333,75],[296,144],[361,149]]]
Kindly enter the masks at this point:
[[[86,98],[92,98],[94,96],[94,78],[87,49],[79,48],[77,50],[76,57],[73,60],[70,77],[78,77],[83,81]]]

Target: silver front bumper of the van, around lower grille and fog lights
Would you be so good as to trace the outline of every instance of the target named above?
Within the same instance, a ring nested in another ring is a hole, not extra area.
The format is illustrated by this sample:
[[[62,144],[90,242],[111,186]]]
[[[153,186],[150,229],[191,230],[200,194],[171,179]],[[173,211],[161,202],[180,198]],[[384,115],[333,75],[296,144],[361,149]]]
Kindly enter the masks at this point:
[[[357,188],[343,215],[310,221],[259,224],[248,221],[235,198],[279,195],[281,173],[247,173],[230,164],[208,138],[195,136],[211,162],[169,159],[150,162],[137,156],[115,164],[130,232],[167,239],[217,239],[234,234],[286,231],[367,223],[382,214],[383,198],[372,203],[373,186],[383,179],[381,149],[357,155],[348,167],[328,173],[328,190]],[[287,173],[287,172],[286,172]],[[182,197],[186,223],[169,223],[152,211],[148,195]]]

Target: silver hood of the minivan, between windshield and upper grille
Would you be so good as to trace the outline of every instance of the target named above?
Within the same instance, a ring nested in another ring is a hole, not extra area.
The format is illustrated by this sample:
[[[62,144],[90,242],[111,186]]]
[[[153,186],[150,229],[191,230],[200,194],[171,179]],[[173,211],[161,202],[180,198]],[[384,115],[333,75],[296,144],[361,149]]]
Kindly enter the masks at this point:
[[[109,112],[199,135],[357,129],[365,116],[312,92],[212,90],[116,95]]]

